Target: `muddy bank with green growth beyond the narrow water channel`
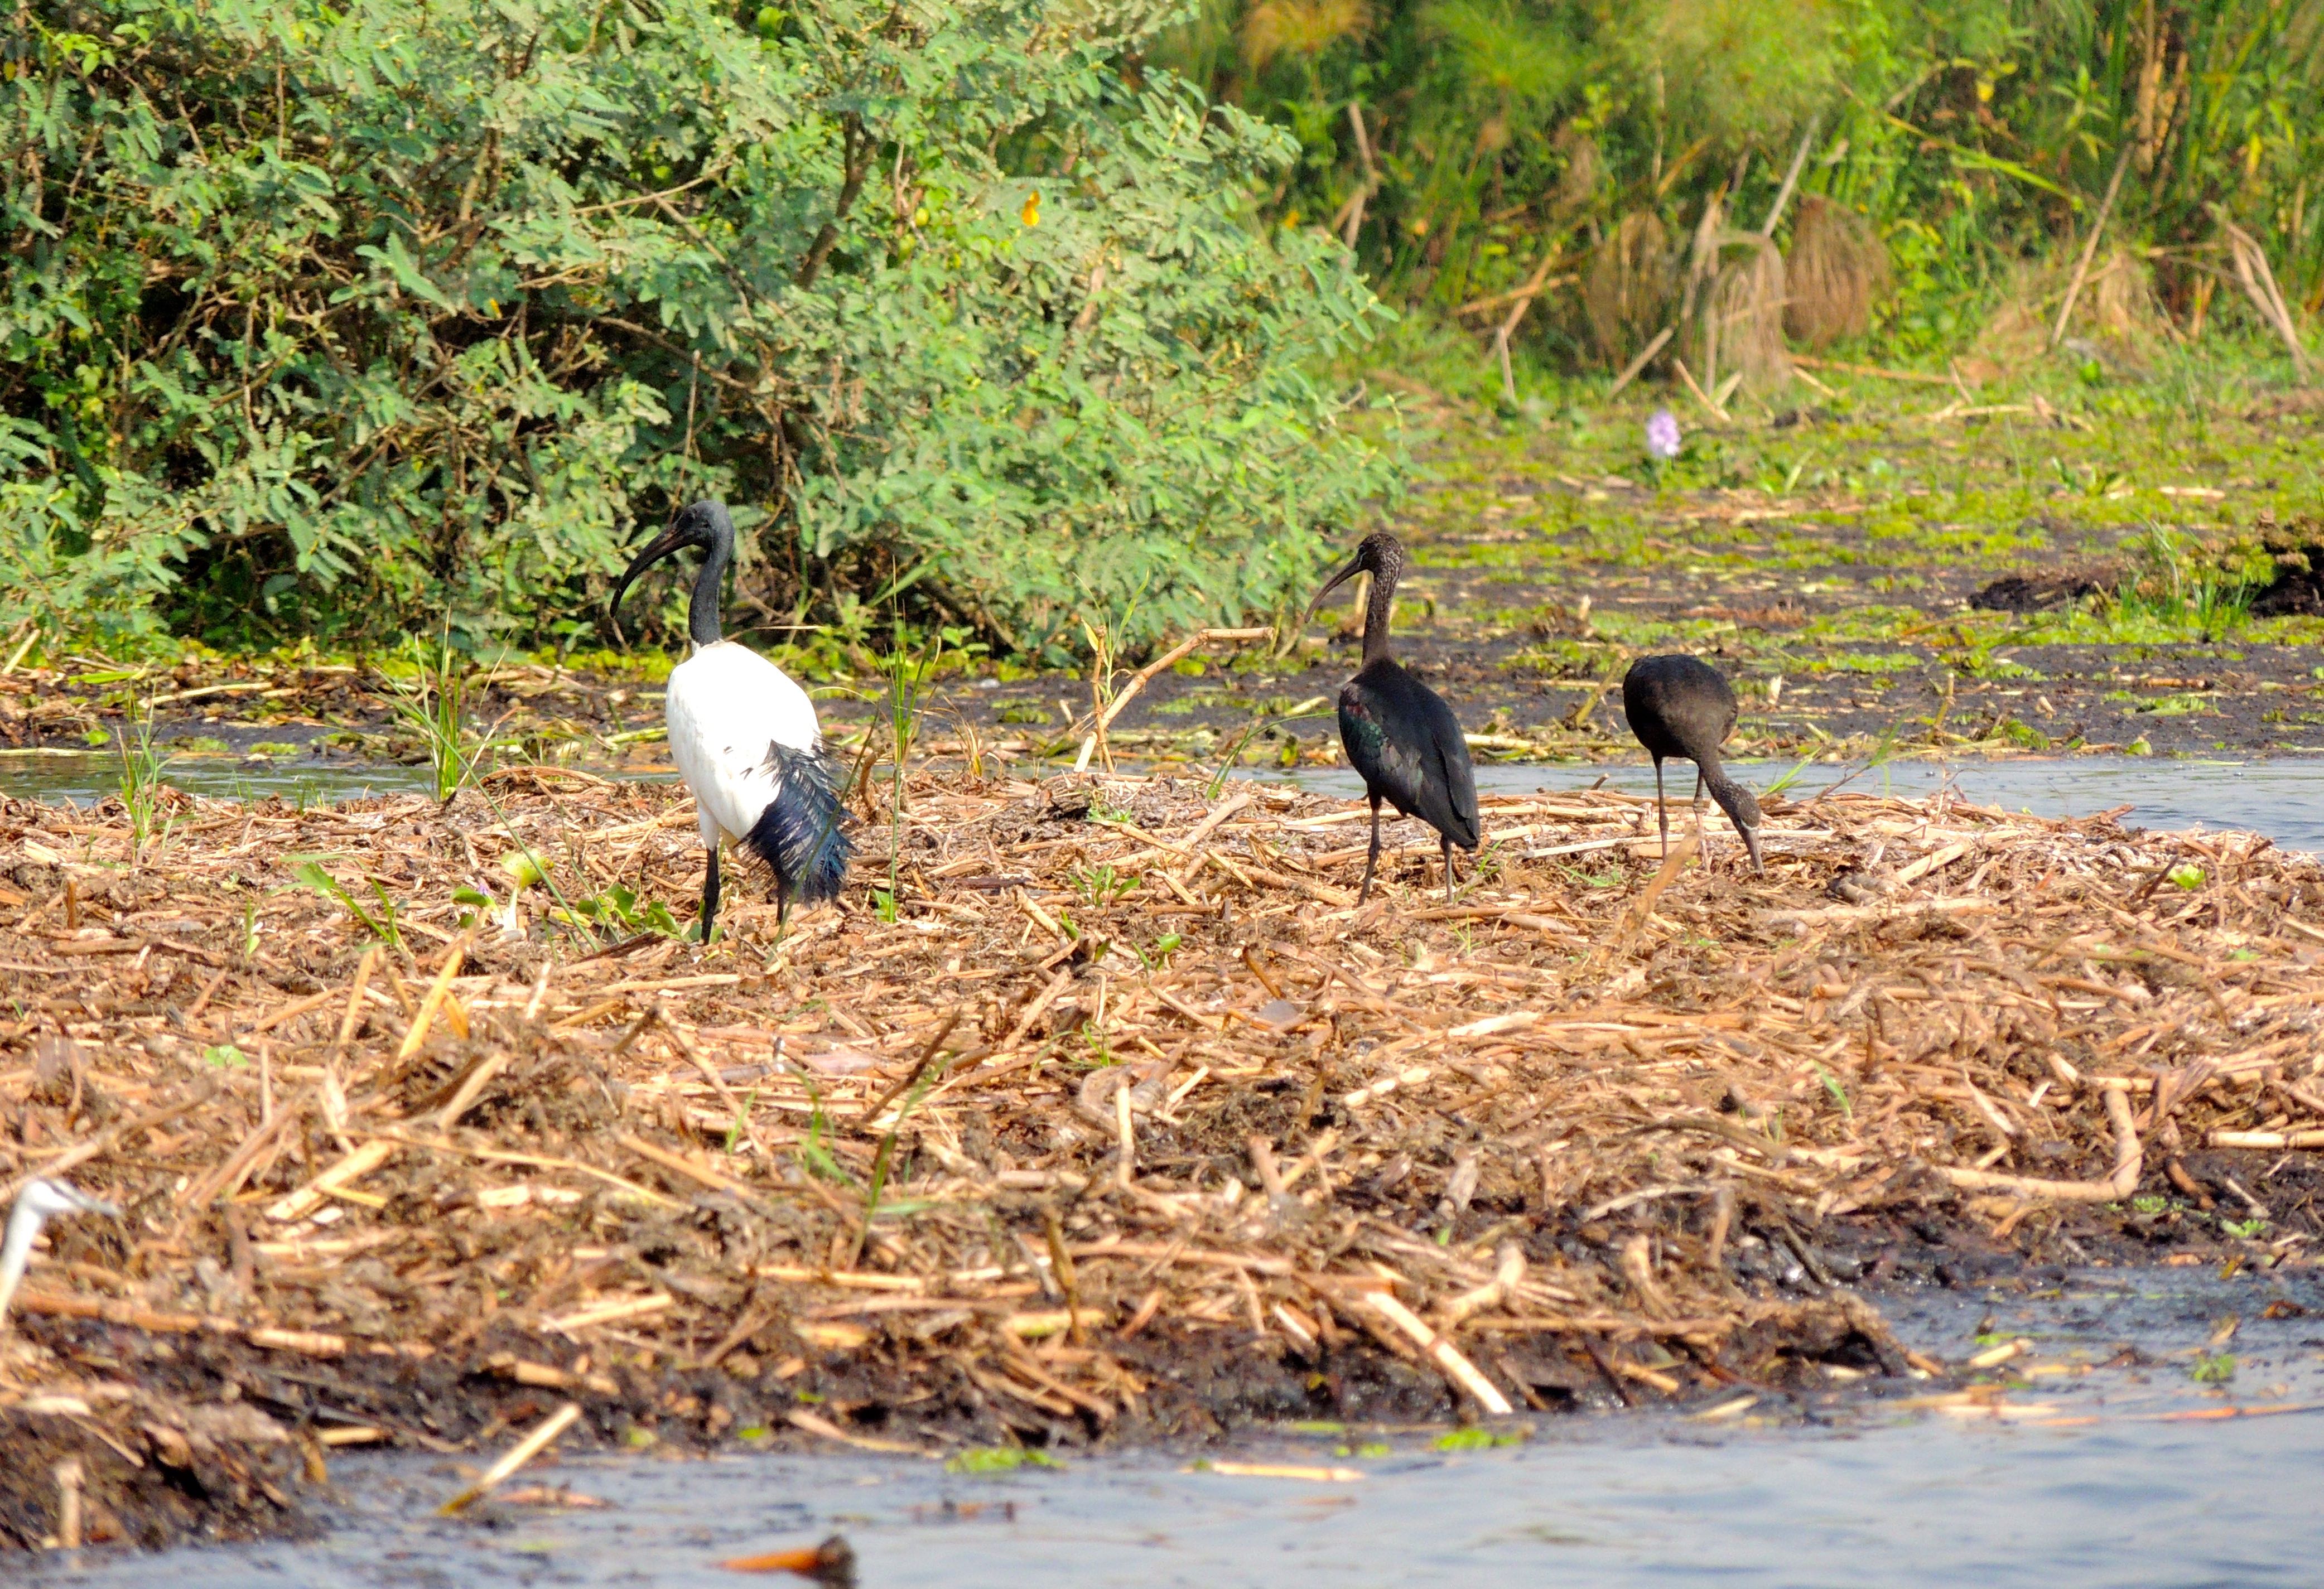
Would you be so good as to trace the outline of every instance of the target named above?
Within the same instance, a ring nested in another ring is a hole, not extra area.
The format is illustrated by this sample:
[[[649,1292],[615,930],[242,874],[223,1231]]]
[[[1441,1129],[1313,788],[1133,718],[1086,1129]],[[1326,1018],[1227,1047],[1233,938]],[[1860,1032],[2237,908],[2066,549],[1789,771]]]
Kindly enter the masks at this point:
[[[1480,757],[1634,757],[1608,685],[1650,650],[1736,681],[1738,755],[2324,750],[2312,404],[2122,390],[1964,411],[1857,381],[1813,411],[1683,416],[1685,453],[1657,472],[1638,425],[1664,400],[1522,423],[1425,404],[1415,488],[1387,518],[1413,551],[1399,648]],[[2117,602],[2124,585],[2145,599]],[[885,734],[869,643],[739,637],[818,695],[837,739]],[[1116,741],[1204,769],[1329,764],[1353,639],[1341,606],[1290,655],[1185,657]],[[476,667],[486,764],[658,767],[658,660],[641,641]],[[0,748],[86,746],[151,709],[186,760],[425,760],[395,711],[409,657],[26,662],[0,671]],[[1085,676],[1030,657],[969,657],[927,685],[923,746],[1020,771],[1071,757],[1092,706]]]

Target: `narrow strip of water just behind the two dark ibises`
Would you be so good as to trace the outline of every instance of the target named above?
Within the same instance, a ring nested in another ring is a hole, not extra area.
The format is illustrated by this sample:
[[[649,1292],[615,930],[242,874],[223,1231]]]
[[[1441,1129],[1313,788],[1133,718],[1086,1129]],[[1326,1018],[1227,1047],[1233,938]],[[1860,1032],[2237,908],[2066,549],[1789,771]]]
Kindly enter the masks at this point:
[[[1789,764],[1736,764],[1738,781],[1755,790],[1789,774]],[[1813,764],[1785,794],[1806,799],[1852,769]],[[1264,774],[1262,774],[1264,776]],[[1348,769],[1274,774],[1329,794],[1364,792]],[[1476,769],[1480,794],[1529,794],[1534,790],[1587,790],[1599,778],[1611,790],[1655,792],[1655,767],[1645,760],[1615,767],[1522,767]],[[1694,769],[1666,764],[1669,794],[1685,801],[1694,792]],[[2008,762],[1887,762],[1848,778],[1845,790],[1866,794],[1931,794],[1952,785],[1980,806],[2031,811],[2033,815],[2092,815],[2131,806],[2124,822],[2154,829],[2231,827],[2275,839],[2287,850],[2324,850],[2324,762],[2282,757],[2268,762],[2194,762],[2129,755],[2024,757]],[[1715,815],[1715,813],[1713,813]]]

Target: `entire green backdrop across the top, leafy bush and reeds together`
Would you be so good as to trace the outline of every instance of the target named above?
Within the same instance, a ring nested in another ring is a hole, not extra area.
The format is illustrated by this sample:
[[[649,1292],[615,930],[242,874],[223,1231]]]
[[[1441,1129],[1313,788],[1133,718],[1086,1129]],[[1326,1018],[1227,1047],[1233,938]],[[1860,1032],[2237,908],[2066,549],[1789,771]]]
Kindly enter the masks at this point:
[[[1392,492],[1376,290],[1536,383],[1992,379],[2119,188],[2094,335],[2324,307],[2324,0],[14,5],[9,634],[579,639],[718,492],[746,623],[1134,650]]]

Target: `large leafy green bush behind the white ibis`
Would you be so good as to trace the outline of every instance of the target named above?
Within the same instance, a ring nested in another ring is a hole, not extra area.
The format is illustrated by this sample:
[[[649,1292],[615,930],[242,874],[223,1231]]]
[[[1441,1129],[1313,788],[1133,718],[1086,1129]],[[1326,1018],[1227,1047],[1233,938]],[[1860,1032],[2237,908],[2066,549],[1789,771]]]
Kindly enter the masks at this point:
[[[1383,311],[1150,16],[19,0],[0,625],[576,637],[702,492],[772,620],[1283,606],[1392,486],[1313,376]]]

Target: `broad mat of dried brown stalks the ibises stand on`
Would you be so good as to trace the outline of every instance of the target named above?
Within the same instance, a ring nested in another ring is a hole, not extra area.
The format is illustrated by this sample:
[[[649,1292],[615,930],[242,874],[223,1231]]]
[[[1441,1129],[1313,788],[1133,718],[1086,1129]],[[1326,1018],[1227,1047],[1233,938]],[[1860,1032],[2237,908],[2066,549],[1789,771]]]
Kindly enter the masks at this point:
[[[0,1536],[56,1464],[91,1536],[281,1526],[335,1445],[567,1399],[941,1452],[1899,1373],[1850,1231],[2043,1241],[2205,1136],[2261,1194],[2324,1143],[2324,873],[2243,836],[1843,792],[1769,799],[1755,880],[1541,794],[1459,904],[1406,825],[1357,906],[1357,806],[920,776],[844,908],[593,955],[500,860],[683,901],[690,806],[530,776],[191,804],[142,860],[0,811],[0,1175],[125,1210],[0,1336]]]

